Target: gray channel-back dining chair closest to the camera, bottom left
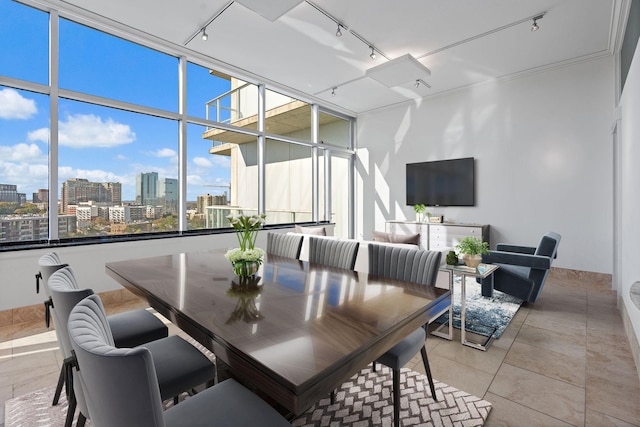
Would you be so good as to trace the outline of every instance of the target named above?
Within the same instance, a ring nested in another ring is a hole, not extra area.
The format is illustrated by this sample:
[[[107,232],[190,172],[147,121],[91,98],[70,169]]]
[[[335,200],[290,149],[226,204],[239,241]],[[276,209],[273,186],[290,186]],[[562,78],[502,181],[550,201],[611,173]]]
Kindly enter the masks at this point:
[[[147,346],[116,348],[97,295],[76,304],[68,330],[95,427],[290,426],[232,379],[163,411],[153,351]]]

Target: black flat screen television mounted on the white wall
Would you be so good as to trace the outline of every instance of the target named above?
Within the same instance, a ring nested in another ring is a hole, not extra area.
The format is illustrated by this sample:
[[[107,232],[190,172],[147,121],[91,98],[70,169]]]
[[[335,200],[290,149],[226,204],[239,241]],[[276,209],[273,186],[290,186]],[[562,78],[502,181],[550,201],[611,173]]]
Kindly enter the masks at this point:
[[[473,157],[407,163],[407,205],[474,206]]]

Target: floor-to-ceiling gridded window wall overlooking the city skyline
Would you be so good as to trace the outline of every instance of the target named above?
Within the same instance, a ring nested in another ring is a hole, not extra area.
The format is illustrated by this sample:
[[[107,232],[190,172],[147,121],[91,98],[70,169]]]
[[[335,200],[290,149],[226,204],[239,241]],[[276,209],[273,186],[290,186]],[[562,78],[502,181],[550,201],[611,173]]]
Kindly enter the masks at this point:
[[[84,18],[0,0],[0,245],[224,228],[237,212],[349,234],[352,119],[272,88],[259,102],[259,82]]]

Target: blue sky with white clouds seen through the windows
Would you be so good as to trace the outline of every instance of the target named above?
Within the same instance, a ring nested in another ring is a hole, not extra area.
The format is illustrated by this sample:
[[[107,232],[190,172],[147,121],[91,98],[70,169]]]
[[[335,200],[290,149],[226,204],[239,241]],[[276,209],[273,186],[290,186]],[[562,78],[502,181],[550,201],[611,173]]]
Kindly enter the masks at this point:
[[[47,85],[48,15],[0,0],[0,76]],[[178,111],[178,60],[77,23],[60,20],[59,87],[171,113]],[[187,114],[205,117],[205,103],[229,90],[227,80],[187,67]],[[136,175],[178,178],[178,122],[59,101],[58,191],[69,178],[122,183],[135,200]],[[49,97],[0,85],[0,183],[27,200],[48,188]],[[210,155],[204,127],[187,127],[187,200],[221,194],[230,180],[228,157]]]

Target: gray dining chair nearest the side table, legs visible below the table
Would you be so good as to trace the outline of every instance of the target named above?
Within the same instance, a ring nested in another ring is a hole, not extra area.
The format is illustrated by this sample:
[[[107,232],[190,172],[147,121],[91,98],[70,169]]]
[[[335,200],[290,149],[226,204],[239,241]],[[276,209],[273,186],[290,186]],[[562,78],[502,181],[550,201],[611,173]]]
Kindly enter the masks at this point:
[[[442,253],[439,251],[424,251],[417,249],[399,248],[386,245],[369,245],[369,274],[404,282],[425,286],[435,286],[440,268]],[[449,302],[450,303],[450,302]],[[429,380],[431,397],[437,401],[436,389],[431,376],[429,359],[426,348],[426,325],[413,331],[398,344],[387,350],[373,362],[381,363],[391,368],[393,372],[393,422],[400,423],[400,369],[406,365],[414,355],[420,352],[422,363]]]

